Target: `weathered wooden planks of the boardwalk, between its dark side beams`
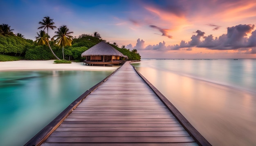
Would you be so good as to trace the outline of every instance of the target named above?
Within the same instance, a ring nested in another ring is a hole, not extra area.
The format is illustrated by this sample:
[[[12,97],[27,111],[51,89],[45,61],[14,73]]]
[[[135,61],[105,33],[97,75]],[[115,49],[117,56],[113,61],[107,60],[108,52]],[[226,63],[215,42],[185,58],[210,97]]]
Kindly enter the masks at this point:
[[[67,116],[42,146],[196,146],[126,62]]]

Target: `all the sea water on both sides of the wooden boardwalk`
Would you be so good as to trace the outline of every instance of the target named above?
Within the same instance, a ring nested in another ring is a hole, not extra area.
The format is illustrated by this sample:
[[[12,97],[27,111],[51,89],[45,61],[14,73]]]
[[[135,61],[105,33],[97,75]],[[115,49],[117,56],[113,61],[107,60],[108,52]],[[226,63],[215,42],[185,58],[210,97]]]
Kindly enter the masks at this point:
[[[256,59],[133,63],[213,146],[256,145]],[[0,145],[24,145],[111,71],[0,72]]]

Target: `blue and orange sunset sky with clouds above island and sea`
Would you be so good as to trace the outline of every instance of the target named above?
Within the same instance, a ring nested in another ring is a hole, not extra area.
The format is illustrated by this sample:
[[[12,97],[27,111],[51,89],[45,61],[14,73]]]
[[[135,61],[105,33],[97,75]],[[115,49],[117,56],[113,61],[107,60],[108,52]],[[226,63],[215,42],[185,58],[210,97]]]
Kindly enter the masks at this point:
[[[0,0],[0,24],[27,39],[46,16],[141,58],[256,58],[256,0]]]

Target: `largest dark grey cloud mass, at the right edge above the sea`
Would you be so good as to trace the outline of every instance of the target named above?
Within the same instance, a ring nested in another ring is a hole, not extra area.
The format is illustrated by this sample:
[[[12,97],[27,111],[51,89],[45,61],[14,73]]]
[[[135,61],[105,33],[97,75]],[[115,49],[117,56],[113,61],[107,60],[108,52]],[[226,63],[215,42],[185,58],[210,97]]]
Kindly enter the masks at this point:
[[[204,32],[197,30],[197,35],[191,36],[191,41],[185,42],[182,40],[180,44],[170,47],[171,50],[180,48],[198,47],[211,50],[237,50],[241,48],[256,47],[256,30],[254,25],[239,24],[234,27],[227,28],[227,34],[222,34],[218,38],[213,38],[213,35],[204,36]],[[247,37],[250,34],[249,38]],[[203,38],[204,40],[200,40]],[[254,52],[254,49],[252,50]]]

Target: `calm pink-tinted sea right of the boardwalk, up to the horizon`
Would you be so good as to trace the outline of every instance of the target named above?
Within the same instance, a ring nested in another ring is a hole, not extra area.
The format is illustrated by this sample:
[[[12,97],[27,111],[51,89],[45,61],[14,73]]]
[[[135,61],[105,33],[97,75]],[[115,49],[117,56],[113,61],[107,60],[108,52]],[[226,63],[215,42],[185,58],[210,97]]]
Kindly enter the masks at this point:
[[[213,146],[256,146],[256,59],[133,65]]]

